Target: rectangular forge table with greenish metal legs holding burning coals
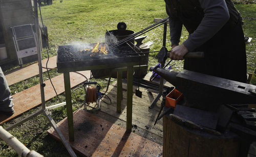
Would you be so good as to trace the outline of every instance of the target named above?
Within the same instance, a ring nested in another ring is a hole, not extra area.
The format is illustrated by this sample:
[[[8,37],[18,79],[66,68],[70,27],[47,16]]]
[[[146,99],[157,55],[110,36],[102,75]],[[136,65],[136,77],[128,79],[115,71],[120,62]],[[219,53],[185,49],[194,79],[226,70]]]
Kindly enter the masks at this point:
[[[70,62],[59,62],[57,59],[57,71],[63,73],[64,84],[65,84],[65,94],[66,94],[66,107],[67,107],[67,118],[69,127],[69,141],[74,141],[74,126],[73,126],[73,110],[71,102],[71,87],[70,87],[70,72],[85,71],[85,70],[102,70],[102,69],[115,69],[117,71],[117,112],[121,112],[121,92],[122,87],[122,71],[127,69],[127,106],[126,106],[126,130],[132,131],[132,104],[133,104],[133,72],[134,69],[138,68],[140,64],[140,57],[123,57],[116,58],[115,62],[113,60],[99,60],[97,62],[92,61],[70,61]],[[136,66],[137,65],[137,66]],[[140,66],[140,68],[145,68],[146,65]]]

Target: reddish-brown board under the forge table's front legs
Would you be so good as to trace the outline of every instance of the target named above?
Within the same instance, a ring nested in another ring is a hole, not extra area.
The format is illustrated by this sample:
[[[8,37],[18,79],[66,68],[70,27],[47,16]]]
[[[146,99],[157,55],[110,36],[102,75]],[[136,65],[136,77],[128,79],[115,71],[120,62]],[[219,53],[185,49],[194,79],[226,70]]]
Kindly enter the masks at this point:
[[[82,156],[161,156],[162,146],[133,132],[125,132],[116,124],[79,109],[74,115],[75,141],[71,147]],[[68,139],[67,118],[60,121],[59,129]],[[60,140],[53,128],[48,133]]]

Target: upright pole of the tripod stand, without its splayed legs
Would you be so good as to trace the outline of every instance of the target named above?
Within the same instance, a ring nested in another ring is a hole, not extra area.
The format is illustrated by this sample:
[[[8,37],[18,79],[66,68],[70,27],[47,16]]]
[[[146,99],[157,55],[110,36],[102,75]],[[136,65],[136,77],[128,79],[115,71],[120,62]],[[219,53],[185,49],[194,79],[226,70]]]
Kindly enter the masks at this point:
[[[44,80],[42,79],[42,61],[41,61],[41,41],[40,41],[40,29],[38,23],[38,10],[37,10],[37,0],[33,0],[34,4],[34,16],[35,16],[35,36],[36,36],[36,46],[37,46],[37,59],[38,59],[38,69],[39,69],[39,79],[40,79],[40,91],[41,91],[41,102],[42,109],[46,108],[45,101],[45,90],[44,90]]]

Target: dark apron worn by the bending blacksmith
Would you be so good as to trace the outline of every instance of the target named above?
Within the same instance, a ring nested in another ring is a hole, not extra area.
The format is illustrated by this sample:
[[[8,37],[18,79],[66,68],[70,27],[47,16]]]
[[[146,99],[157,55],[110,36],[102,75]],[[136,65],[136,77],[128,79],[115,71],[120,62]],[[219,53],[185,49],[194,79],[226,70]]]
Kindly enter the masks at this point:
[[[193,33],[204,13],[197,0],[165,0],[167,9],[177,16]],[[194,51],[203,51],[203,59],[186,58],[184,69],[246,82],[246,51],[241,16],[229,0],[226,1],[230,19],[211,39]]]

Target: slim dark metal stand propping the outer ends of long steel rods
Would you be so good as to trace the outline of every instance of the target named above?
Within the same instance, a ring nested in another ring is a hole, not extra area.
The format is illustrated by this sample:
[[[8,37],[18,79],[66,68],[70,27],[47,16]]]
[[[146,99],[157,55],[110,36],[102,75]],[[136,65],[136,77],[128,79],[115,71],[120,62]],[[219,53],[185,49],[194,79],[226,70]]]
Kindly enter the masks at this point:
[[[163,47],[166,46],[166,31],[167,31],[167,21],[164,23],[164,26],[163,26]],[[161,64],[161,68],[163,67],[164,67],[164,63]],[[162,95],[163,95],[163,78],[160,77],[159,93],[156,96],[156,98],[153,100],[151,105],[148,107],[153,108]]]

